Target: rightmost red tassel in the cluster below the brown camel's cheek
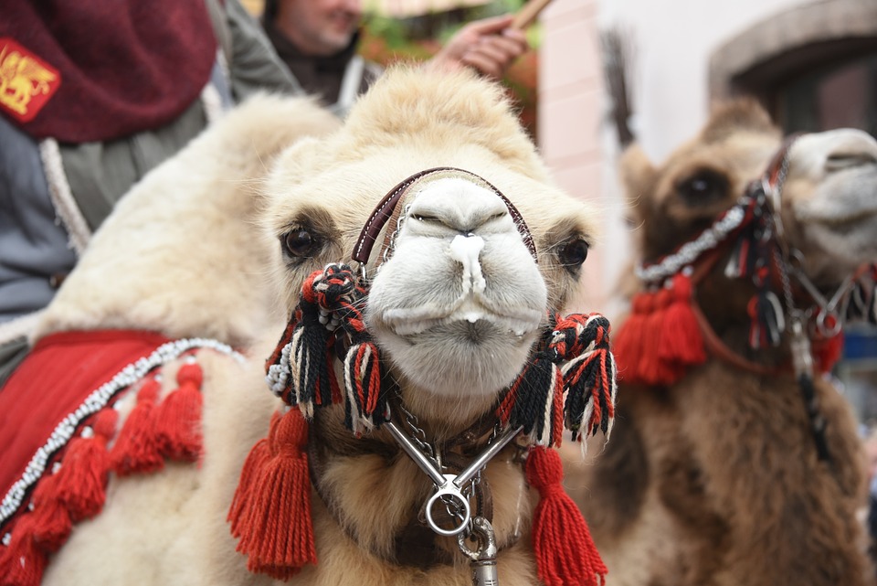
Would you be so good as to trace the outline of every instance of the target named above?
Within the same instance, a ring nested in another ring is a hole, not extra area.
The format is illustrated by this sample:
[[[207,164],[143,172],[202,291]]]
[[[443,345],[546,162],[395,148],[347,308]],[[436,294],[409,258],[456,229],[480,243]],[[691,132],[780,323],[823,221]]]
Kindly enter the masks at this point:
[[[692,309],[692,279],[682,273],[673,277],[671,304],[667,308],[660,342],[660,357],[684,366],[703,364],[703,334]]]

